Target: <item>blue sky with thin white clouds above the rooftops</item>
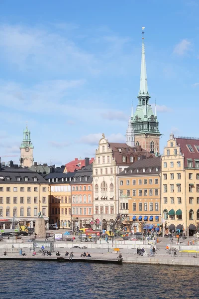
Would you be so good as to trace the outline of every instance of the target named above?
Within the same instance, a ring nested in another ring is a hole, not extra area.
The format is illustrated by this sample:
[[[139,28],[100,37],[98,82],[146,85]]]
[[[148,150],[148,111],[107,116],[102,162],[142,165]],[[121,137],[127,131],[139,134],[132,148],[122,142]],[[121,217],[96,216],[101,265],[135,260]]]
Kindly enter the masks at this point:
[[[171,131],[199,137],[199,1],[1,0],[0,12],[0,155],[18,162],[26,121],[42,163],[94,156],[101,133],[125,141],[142,26],[161,152]]]

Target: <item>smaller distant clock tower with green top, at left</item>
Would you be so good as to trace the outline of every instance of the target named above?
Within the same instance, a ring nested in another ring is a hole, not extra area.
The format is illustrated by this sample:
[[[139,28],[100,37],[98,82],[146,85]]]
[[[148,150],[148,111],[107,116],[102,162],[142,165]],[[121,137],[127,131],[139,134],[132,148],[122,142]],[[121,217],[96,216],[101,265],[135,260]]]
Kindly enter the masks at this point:
[[[33,149],[31,140],[30,140],[30,131],[28,130],[28,127],[26,126],[25,130],[23,131],[23,141],[20,146],[20,165],[22,167],[30,167],[33,164]]]

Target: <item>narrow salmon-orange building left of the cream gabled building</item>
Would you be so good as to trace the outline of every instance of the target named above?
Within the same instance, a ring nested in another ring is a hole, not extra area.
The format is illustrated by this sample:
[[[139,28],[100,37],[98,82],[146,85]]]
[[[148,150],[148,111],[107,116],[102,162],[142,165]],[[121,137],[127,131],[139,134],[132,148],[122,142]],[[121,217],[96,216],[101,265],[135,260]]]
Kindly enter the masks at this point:
[[[93,164],[78,170],[71,181],[72,229],[91,227],[93,222]]]

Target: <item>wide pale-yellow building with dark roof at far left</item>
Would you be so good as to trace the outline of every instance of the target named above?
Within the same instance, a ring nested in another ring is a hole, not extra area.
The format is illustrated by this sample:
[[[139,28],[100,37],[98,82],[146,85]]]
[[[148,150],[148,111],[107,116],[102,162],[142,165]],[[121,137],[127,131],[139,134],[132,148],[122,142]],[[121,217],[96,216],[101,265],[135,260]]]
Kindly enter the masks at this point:
[[[0,171],[0,229],[34,227],[41,212],[48,228],[48,183],[33,171],[7,167]]]

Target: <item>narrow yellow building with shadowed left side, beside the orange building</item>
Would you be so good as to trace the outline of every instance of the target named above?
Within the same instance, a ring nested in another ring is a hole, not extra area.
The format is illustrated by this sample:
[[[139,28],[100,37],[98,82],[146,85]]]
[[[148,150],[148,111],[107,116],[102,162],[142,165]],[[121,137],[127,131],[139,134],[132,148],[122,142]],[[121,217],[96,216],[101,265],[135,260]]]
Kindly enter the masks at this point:
[[[49,223],[58,227],[71,227],[71,186],[75,172],[49,173]]]

